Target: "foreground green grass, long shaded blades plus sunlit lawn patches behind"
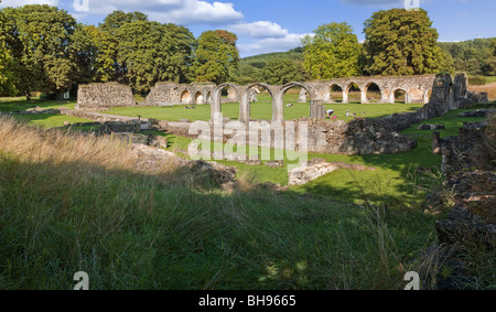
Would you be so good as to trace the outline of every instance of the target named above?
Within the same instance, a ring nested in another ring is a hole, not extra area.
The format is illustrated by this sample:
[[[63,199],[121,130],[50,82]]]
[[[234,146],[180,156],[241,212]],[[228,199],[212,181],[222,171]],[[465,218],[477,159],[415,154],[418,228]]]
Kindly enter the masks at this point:
[[[445,137],[479,120],[457,114],[429,122],[445,125]],[[338,171],[281,194],[197,189],[187,174],[163,180],[83,157],[34,161],[0,146],[0,289],[72,289],[82,270],[91,289],[402,289],[419,251],[436,241],[436,217],[410,205],[424,176],[409,172],[441,161],[432,131],[403,133],[419,148],[310,155],[377,172]],[[169,139],[187,149],[188,139]],[[259,182],[287,174],[236,165]],[[347,204],[367,201],[380,205]]]

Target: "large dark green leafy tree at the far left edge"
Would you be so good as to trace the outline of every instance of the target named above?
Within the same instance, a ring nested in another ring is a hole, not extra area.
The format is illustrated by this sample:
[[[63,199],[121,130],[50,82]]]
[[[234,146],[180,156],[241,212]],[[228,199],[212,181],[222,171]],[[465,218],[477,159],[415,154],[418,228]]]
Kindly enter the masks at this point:
[[[76,21],[50,6],[6,8],[4,43],[14,60],[14,83],[28,98],[34,90],[61,94],[74,83],[71,36]]]

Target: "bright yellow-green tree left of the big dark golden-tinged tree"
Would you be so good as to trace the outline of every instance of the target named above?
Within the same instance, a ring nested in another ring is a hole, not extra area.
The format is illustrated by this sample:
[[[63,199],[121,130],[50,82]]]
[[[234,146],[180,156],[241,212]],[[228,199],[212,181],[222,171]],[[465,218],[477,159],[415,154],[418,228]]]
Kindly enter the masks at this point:
[[[319,26],[303,39],[304,67],[314,79],[355,76],[360,73],[358,37],[347,23]]]

